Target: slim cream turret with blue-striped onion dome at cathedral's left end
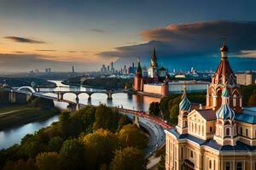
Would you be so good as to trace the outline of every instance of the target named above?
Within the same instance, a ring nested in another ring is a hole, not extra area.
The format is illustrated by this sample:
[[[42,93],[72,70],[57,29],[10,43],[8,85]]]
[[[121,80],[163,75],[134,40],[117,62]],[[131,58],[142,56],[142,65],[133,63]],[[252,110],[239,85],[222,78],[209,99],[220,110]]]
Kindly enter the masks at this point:
[[[186,94],[186,86],[183,85],[183,96],[179,103],[179,114],[177,117],[177,132],[180,134],[188,133],[188,115],[191,111],[191,104]]]

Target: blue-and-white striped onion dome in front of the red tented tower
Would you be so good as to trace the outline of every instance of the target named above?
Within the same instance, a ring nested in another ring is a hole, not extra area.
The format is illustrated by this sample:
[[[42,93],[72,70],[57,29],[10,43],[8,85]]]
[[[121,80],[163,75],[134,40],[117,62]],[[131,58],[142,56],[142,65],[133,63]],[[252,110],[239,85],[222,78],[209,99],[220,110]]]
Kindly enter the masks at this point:
[[[235,117],[235,111],[233,111],[230,108],[230,105],[224,104],[224,105],[221,105],[218,111],[216,111],[216,116],[218,119],[224,119],[224,120],[230,119],[233,121]]]

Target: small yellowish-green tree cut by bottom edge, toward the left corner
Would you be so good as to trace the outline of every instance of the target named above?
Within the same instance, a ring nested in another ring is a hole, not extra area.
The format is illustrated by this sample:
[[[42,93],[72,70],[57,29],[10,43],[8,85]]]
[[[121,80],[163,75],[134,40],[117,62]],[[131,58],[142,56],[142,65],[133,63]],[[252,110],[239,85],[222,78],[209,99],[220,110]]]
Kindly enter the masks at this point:
[[[38,154],[36,165],[39,170],[61,169],[60,156],[56,152],[43,152]]]

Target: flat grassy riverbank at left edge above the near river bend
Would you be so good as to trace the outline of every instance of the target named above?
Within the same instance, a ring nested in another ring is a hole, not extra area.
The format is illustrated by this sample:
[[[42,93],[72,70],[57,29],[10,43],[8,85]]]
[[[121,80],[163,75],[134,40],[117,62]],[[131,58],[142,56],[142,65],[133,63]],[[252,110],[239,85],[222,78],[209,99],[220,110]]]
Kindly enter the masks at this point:
[[[29,122],[42,121],[57,114],[59,111],[56,109],[45,110],[27,105],[7,106],[0,110],[0,131]]]

